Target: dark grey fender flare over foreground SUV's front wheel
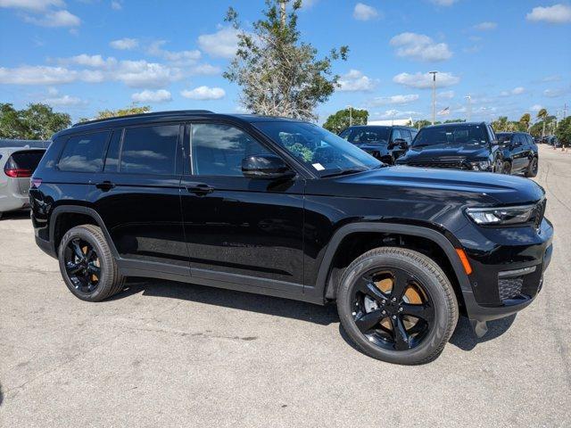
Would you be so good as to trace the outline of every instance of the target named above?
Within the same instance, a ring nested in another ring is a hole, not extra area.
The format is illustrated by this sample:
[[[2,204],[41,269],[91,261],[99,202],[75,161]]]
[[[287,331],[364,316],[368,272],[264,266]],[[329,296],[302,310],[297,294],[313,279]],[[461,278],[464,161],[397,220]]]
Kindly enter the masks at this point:
[[[335,252],[346,236],[359,232],[377,232],[419,236],[432,241],[444,251],[444,254],[449,259],[451,267],[454,270],[454,274],[458,279],[460,291],[462,292],[464,300],[468,304],[468,300],[472,301],[474,299],[472,285],[470,284],[468,276],[466,275],[464,267],[462,266],[462,263],[458,257],[458,253],[456,252],[456,249],[452,245],[451,241],[442,233],[429,227],[402,225],[399,223],[363,222],[340,227],[327,244],[327,250],[325,251],[323,259],[321,260],[321,264],[319,265],[318,277],[315,287],[306,286],[309,293],[316,295],[316,297],[319,295],[321,298],[326,300],[325,296],[329,287],[328,283],[331,272],[331,263],[335,257]]]

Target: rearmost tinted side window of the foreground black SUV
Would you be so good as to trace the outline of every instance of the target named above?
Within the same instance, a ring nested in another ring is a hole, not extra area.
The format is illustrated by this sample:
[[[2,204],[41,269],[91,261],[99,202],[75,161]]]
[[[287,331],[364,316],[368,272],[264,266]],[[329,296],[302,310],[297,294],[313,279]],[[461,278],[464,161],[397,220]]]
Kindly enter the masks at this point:
[[[62,171],[95,172],[103,167],[103,149],[108,131],[70,136],[58,162]]]

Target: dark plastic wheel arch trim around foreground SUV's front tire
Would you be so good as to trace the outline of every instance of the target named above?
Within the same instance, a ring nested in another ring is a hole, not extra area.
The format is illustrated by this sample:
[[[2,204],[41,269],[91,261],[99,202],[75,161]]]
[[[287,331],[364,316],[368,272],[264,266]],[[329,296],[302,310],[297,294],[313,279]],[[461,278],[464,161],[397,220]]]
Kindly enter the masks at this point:
[[[410,226],[398,223],[356,223],[339,228],[327,245],[327,250],[325,251],[321,264],[319,265],[314,290],[314,292],[319,293],[324,300],[335,299],[336,278],[334,275],[334,260],[335,256],[338,255],[338,251],[342,249],[343,242],[354,235],[360,235],[363,233],[403,235],[411,238],[421,238],[427,242],[433,243],[437,248],[443,251],[448,263],[450,263],[451,275],[455,276],[450,279],[452,283],[456,280],[454,291],[457,293],[459,302],[464,302],[467,297],[466,293],[471,293],[471,284],[469,283],[468,276],[466,275],[458,253],[456,252],[456,248],[451,243],[451,240],[443,234],[443,232],[434,230],[428,226]],[[457,244],[457,247],[459,248],[459,244]]]

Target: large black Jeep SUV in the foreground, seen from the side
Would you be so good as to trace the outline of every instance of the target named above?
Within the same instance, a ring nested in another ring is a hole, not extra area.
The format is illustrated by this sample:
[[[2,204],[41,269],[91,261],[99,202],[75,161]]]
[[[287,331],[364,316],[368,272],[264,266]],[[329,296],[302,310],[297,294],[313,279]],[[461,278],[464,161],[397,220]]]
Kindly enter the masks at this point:
[[[550,262],[533,181],[388,167],[292,119],[95,120],[56,134],[31,182],[36,242],[79,299],[147,276],[336,300],[360,350],[394,363],[438,356],[459,314],[481,335],[525,308]]]

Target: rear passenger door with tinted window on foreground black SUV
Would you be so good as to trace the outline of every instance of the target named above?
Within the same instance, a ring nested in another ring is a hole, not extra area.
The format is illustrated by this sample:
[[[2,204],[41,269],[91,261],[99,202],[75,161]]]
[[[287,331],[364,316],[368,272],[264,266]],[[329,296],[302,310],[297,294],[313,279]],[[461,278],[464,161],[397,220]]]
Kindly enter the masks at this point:
[[[179,123],[113,131],[103,171],[88,200],[103,218],[127,267],[187,276],[188,257],[180,212]]]

